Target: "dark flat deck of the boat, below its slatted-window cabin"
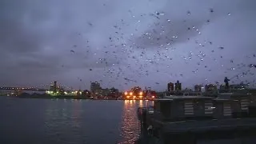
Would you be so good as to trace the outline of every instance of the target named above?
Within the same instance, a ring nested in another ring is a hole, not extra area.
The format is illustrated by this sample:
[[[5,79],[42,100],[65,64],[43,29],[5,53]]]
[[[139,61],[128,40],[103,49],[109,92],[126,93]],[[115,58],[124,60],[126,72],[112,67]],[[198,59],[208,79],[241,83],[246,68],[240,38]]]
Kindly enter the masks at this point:
[[[186,120],[179,122],[162,122],[151,119],[149,122],[146,127],[151,124],[154,126],[154,136],[150,137],[145,133],[145,128],[144,133],[141,134],[143,139],[147,139],[147,142],[152,141],[150,140],[152,138],[158,138],[158,140],[161,140],[159,143],[162,144],[196,144],[202,140],[232,140],[234,138],[253,138],[254,140],[249,143],[256,142],[256,118]]]

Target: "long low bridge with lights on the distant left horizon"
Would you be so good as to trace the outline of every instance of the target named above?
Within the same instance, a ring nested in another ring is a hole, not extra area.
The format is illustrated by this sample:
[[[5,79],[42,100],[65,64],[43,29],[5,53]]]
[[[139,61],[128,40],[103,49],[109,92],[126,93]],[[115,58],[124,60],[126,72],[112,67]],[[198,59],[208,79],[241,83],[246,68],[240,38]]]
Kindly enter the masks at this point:
[[[12,87],[12,86],[2,86],[0,87],[0,90],[29,90],[29,91],[46,91],[50,89],[50,86],[52,86],[54,82],[46,85],[41,86],[33,86],[33,87]],[[58,86],[61,86],[65,88],[66,90],[72,90],[69,86],[58,84]]]

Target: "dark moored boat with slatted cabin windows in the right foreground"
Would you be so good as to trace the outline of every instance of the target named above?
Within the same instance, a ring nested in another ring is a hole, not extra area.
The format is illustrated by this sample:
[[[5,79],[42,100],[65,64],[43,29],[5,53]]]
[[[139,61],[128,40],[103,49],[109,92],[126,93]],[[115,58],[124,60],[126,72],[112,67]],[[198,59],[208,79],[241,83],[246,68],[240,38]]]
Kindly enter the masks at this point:
[[[250,95],[226,95],[171,96],[155,99],[154,106],[139,107],[137,143],[195,144],[234,138],[253,138],[248,143],[255,143],[256,106]]]

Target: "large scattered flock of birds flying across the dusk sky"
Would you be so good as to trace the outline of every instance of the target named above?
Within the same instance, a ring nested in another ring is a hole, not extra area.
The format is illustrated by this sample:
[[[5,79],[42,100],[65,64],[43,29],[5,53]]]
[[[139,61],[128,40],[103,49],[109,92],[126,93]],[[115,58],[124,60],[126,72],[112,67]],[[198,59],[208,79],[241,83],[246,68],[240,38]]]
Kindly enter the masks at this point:
[[[128,12],[132,14],[131,10],[129,10]],[[214,13],[214,9],[209,9],[209,13]],[[188,10],[186,14],[191,15],[193,13],[190,10]],[[163,19],[165,22],[171,22],[171,19],[166,18],[165,15],[166,14],[164,12],[158,12],[158,11],[151,14],[140,15],[141,17],[148,16],[156,19],[154,22],[154,29],[152,29],[150,32],[146,32],[145,34],[142,34],[138,38],[141,42],[146,42],[147,46],[150,46],[150,44],[152,44],[153,47],[156,47],[155,48],[156,53],[153,56],[151,55],[150,56],[151,58],[147,57],[149,50],[147,50],[146,46],[143,46],[142,43],[136,43],[137,41],[134,42],[134,39],[131,39],[132,37],[127,41],[127,38],[125,38],[126,34],[123,32],[122,26],[128,26],[129,24],[127,24],[124,19],[121,19],[119,24],[114,25],[113,34],[110,34],[111,36],[108,38],[110,45],[104,46],[104,48],[102,49],[104,51],[103,52],[101,51],[102,58],[98,58],[98,61],[95,62],[95,64],[105,65],[104,66],[105,73],[103,74],[103,77],[110,77],[109,78],[110,82],[111,81],[114,82],[118,80],[118,78],[122,78],[125,81],[124,84],[126,85],[128,85],[130,82],[137,83],[138,80],[136,78],[133,78],[134,74],[138,74],[138,76],[141,76],[141,77],[150,76],[151,71],[146,69],[146,67],[150,67],[152,64],[161,65],[162,62],[173,61],[174,58],[170,58],[170,56],[168,56],[166,52],[175,50],[175,48],[172,45],[178,39],[178,36],[168,35],[168,34],[165,36],[162,36],[162,33],[165,32],[165,29],[167,28],[162,26],[161,22],[163,21]],[[226,15],[230,16],[230,13]],[[186,19],[183,22],[187,22]],[[210,18],[207,19],[206,22],[210,22]],[[91,26],[91,27],[94,26],[92,22],[88,22],[87,24],[88,26]],[[184,27],[184,29],[186,29],[187,31],[193,30],[197,34],[201,34],[200,30],[198,30],[196,26],[188,26],[188,27]],[[137,30],[138,30],[138,27],[136,27],[135,31]],[[78,36],[82,36],[81,33],[77,33],[77,34]],[[133,36],[133,34],[130,34],[130,35]],[[162,42],[160,42],[160,41],[163,41],[162,38],[165,39],[164,40],[164,42],[166,42],[165,45],[163,45]],[[187,38],[187,41],[192,41],[192,40],[190,38]],[[117,43],[121,43],[121,44],[117,44]],[[214,46],[214,42],[211,42],[211,41],[199,42],[198,40],[196,40],[194,41],[194,43],[197,46],[201,46],[201,47]],[[87,44],[88,45],[86,46],[86,52],[90,53],[91,49],[93,48],[90,46],[89,40],[87,40]],[[77,45],[72,46],[70,53],[75,54],[76,49],[78,48],[79,46]],[[219,50],[225,50],[225,47],[216,46],[216,48],[213,50],[210,50],[210,52],[215,53],[216,51],[218,51],[219,53],[220,52]],[[139,51],[139,54],[138,54],[138,51]],[[199,51],[199,54],[194,54],[191,50],[190,54],[188,54],[187,56],[183,56],[182,59],[187,63],[187,62],[190,62],[190,60],[194,57],[194,55],[196,55],[196,57],[198,58],[197,65],[200,67],[196,68],[195,70],[192,70],[191,73],[196,74],[201,69],[206,69],[209,72],[212,71],[210,67],[207,66],[206,63],[203,63],[207,55],[204,54],[202,51]],[[251,54],[247,57],[256,58],[256,55]],[[111,63],[110,58],[118,59],[118,62]],[[223,56],[221,55],[219,56],[219,58],[223,58]],[[219,58],[213,58],[213,61],[218,61]],[[120,66],[121,65],[120,63],[123,61],[126,62],[127,59],[132,59],[134,61],[133,64],[138,66],[138,69],[134,69],[130,63],[122,64],[122,66]],[[256,68],[256,65],[253,63],[235,63],[234,59],[230,59],[230,63],[233,66],[234,65],[236,66],[226,67],[225,73],[228,73],[228,70],[240,70],[240,71],[242,70],[242,72],[238,72],[238,74],[235,74],[234,77],[230,78],[231,81],[233,82],[235,78],[239,79],[239,78],[246,77],[247,75],[254,75],[255,73],[254,68]],[[125,67],[123,67],[124,65]],[[166,67],[170,68],[169,65]],[[93,71],[94,68],[89,67],[87,70]],[[130,72],[130,74],[128,75],[125,73],[127,72],[127,70]],[[162,73],[161,69],[160,70],[156,69],[155,71],[160,74]],[[174,75],[175,76],[178,75],[180,77],[184,76],[183,74],[174,74]],[[78,77],[78,81],[82,82],[82,78]],[[98,81],[102,82],[101,79],[98,79]],[[256,84],[255,80],[253,81],[245,80],[244,82],[246,82],[247,84],[251,84],[252,86],[254,86],[254,83]],[[219,82],[215,82],[215,83],[219,83]],[[154,82],[154,84],[158,85],[159,82]]]

